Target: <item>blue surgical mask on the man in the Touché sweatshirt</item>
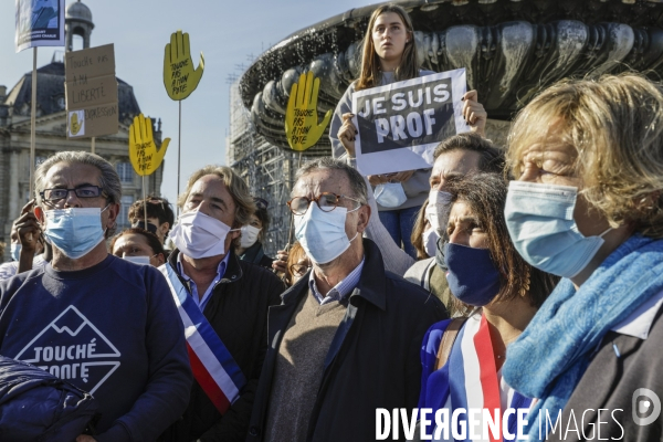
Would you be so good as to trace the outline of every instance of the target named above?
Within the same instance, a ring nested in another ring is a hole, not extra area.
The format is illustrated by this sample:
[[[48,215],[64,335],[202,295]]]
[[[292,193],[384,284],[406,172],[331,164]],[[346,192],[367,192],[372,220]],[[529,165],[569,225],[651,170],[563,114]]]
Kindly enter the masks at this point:
[[[46,210],[44,211],[46,218],[44,236],[67,257],[77,260],[85,256],[104,241],[104,229],[102,229],[104,210],[99,208]]]

